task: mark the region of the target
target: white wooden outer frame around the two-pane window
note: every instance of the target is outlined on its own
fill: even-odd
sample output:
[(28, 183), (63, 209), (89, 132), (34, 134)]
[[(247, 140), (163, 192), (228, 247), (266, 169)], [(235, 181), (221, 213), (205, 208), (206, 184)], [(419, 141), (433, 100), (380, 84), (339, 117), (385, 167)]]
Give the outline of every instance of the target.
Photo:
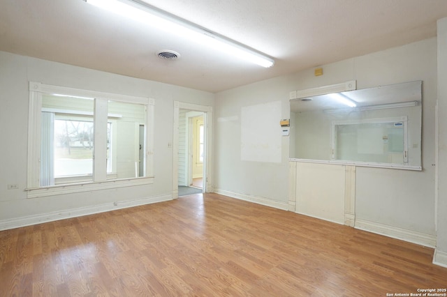
[[(106, 104), (108, 100), (129, 102), (145, 105), (147, 109), (145, 129), (145, 176), (135, 178), (122, 178), (108, 180), (107, 174), (95, 173), (93, 181), (81, 183), (66, 183), (63, 185), (50, 185), (42, 187), (40, 184), (41, 168), (41, 111), (43, 94), (61, 94), (66, 96), (78, 96), (95, 98), (95, 107)], [(28, 122), (28, 160), (27, 160), (27, 197), (46, 197), (74, 192), (87, 192), (91, 190), (105, 190), (122, 188), (133, 185), (145, 185), (154, 183), (154, 102), (152, 98), (104, 93), (73, 89), (65, 86), (54, 86), (40, 82), (29, 82), (29, 122)], [(96, 114), (95, 114), (96, 116)], [(107, 121), (107, 116), (105, 117)], [(96, 138), (96, 137), (95, 137)], [(94, 159), (95, 167), (103, 167), (104, 160)], [(105, 165), (105, 164), (104, 164)]]

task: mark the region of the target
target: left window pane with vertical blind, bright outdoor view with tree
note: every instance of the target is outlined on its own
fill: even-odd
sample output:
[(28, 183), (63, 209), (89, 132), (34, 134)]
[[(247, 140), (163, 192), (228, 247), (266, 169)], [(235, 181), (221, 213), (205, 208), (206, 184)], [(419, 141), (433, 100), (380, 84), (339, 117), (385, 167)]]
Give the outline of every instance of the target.
[(41, 185), (91, 181), (94, 100), (42, 98)]

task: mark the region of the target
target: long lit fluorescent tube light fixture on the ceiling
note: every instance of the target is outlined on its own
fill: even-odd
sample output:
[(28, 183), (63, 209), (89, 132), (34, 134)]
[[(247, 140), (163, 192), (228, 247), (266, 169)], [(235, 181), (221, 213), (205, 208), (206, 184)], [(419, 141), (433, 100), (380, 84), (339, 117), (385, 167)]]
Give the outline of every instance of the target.
[(112, 13), (131, 17), (133, 20), (138, 20), (156, 26), (170, 32), (177, 32), (182, 36), (188, 36), (191, 40), (205, 45), (214, 45), (219, 50), (226, 53), (233, 54), (238, 58), (245, 59), (251, 63), (256, 63), (265, 68), (274, 65), (274, 60), (258, 52), (257, 50), (247, 47), (242, 43), (231, 40), (225, 36), (220, 35), (206, 29), (203, 26), (184, 20), (176, 15), (172, 15), (155, 6), (149, 5), (140, 0), (84, 0), (94, 6), (98, 6)]

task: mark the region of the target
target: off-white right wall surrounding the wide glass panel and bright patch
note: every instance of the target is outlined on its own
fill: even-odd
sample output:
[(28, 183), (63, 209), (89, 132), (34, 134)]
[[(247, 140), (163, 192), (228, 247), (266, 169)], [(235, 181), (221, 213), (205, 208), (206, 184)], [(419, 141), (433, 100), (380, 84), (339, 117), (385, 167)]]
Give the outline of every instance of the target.
[[(242, 107), (281, 100), (289, 117), (288, 93), (357, 80), (358, 89), (423, 81), (422, 172), (358, 167), (356, 219), (396, 230), (434, 236), (434, 109), (437, 100), (437, 39), (430, 38), (382, 52), (324, 65), (217, 93), (215, 188), (259, 203), (278, 206), (288, 197), (288, 137), (281, 163), (244, 162), (240, 158)], [(219, 120), (220, 119), (220, 120)], [(279, 125), (279, 119), (278, 119)]]

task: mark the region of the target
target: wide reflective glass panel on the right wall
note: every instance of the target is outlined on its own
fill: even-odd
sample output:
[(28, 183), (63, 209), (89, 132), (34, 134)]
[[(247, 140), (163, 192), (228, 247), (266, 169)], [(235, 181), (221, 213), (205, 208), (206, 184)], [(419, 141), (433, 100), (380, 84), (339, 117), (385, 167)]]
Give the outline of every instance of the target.
[(291, 160), (423, 169), (421, 81), (338, 93), (356, 107), (318, 92), (304, 90), (305, 98), (290, 102)]

